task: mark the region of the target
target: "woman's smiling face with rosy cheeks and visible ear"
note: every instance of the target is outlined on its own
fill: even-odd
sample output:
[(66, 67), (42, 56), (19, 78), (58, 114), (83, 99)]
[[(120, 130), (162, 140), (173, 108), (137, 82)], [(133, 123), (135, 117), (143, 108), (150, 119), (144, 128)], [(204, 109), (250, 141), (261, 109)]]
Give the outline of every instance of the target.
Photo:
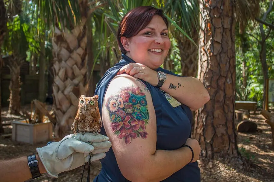
[(170, 48), (168, 29), (159, 15), (154, 15), (150, 23), (137, 35), (121, 38), (126, 54), (137, 63), (157, 69), (164, 62)]

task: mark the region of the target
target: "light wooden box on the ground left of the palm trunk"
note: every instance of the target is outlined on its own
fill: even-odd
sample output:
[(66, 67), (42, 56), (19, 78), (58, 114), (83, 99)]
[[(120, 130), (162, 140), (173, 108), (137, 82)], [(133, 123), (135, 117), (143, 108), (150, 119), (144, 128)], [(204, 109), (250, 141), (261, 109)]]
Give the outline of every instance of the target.
[(52, 124), (29, 124), (23, 121), (12, 122), (12, 140), (25, 143), (39, 143), (52, 140)]

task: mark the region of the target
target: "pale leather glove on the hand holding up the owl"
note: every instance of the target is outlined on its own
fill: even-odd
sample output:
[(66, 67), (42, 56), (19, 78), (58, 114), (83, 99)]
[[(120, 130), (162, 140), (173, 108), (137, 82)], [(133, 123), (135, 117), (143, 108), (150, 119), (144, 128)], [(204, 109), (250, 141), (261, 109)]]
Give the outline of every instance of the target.
[[(91, 161), (102, 159), (111, 147), (109, 138), (92, 133), (70, 134), (59, 142), (52, 142), (47, 146), (37, 148), (36, 151), (47, 170), (48, 177), (58, 177), (64, 171), (75, 169), (89, 161), (89, 153), (93, 153)], [(92, 142), (92, 145), (86, 143)]]

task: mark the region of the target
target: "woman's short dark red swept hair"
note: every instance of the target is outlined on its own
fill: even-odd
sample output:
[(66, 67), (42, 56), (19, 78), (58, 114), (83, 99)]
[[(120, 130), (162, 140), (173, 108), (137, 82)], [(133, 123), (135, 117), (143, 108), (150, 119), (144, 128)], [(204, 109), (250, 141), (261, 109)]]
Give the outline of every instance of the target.
[(137, 35), (149, 24), (154, 15), (161, 16), (168, 28), (167, 18), (164, 16), (163, 10), (153, 8), (152, 6), (140, 6), (125, 14), (117, 31), (117, 41), (121, 53), (126, 53), (121, 43), (121, 37), (130, 38)]

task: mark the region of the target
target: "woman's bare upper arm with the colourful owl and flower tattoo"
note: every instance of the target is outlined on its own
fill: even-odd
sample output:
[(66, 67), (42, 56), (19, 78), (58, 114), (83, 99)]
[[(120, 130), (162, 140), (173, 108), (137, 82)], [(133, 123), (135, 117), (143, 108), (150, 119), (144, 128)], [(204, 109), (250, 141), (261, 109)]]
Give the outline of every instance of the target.
[(105, 93), (102, 118), (114, 152), (125, 150), (122, 146), (132, 150), (136, 146), (132, 143), (144, 149), (153, 146), (154, 150), (151, 143), (156, 144), (155, 111), (151, 95), (139, 79), (130, 75), (112, 79)]

